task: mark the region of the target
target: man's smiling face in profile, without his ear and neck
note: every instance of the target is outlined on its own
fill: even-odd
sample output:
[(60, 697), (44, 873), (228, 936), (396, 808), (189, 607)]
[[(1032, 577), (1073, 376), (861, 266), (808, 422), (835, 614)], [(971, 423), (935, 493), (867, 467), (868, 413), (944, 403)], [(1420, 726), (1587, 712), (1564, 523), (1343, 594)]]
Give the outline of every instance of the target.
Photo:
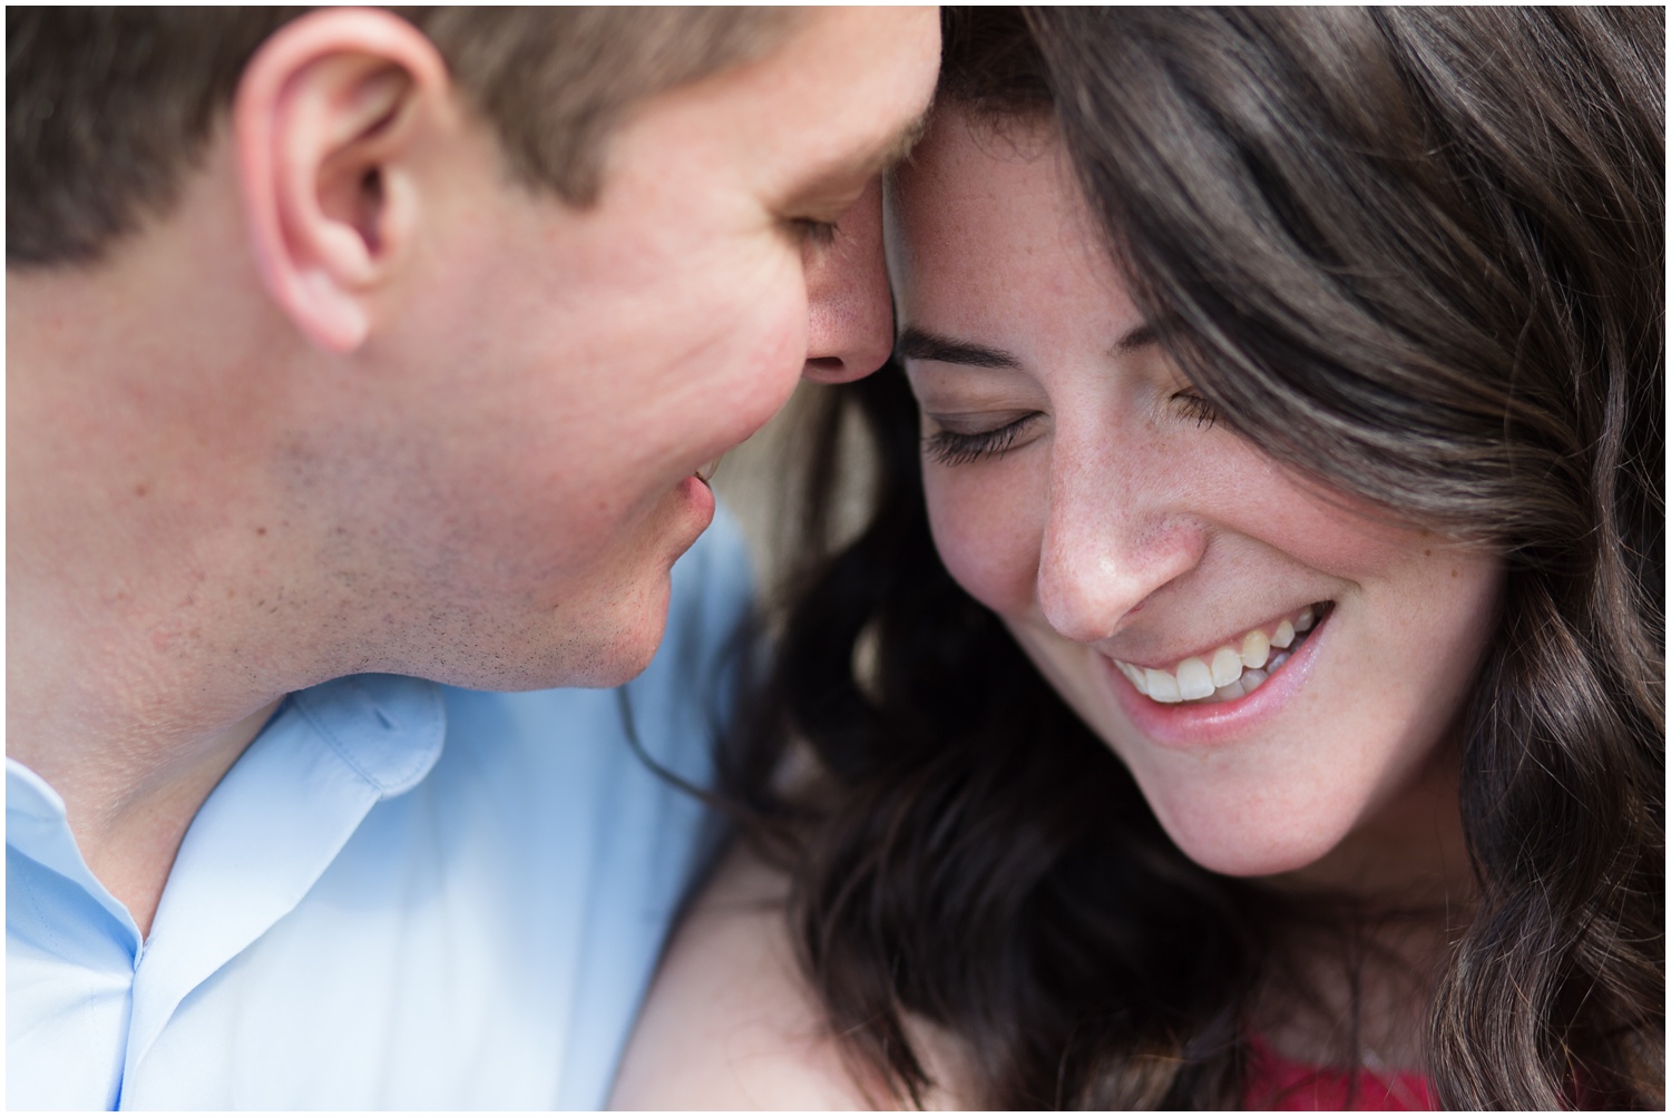
[[(643, 668), (714, 514), (695, 473), (802, 371), (889, 351), (874, 179), (937, 58), (932, 8), (809, 12), (769, 58), (630, 114), (588, 209), (508, 184), (483, 130), (411, 309), (373, 329), (373, 417), (323, 416), (309, 441), (336, 451), (297, 454), (297, 486), (346, 494), (317, 558), (354, 666), (491, 688)], [(809, 227), (837, 219), (829, 244)]]

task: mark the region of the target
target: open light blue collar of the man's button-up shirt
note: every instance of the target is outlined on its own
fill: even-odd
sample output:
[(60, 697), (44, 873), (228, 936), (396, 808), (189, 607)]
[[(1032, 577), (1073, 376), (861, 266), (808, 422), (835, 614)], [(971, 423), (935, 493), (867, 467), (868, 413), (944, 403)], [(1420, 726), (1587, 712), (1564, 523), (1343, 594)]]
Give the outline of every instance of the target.
[[(291, 695), (192, 818), (135, 950), (132, 1069), (180, 1000), (284, 918), (366, 813), (409, 791), (441, 756), (434, 683), (396, 675), (333, 680)], [(82, 885), (137, 945), (127, 908), (87, 868), (63, 800), (7, 758), (7, 845)]]

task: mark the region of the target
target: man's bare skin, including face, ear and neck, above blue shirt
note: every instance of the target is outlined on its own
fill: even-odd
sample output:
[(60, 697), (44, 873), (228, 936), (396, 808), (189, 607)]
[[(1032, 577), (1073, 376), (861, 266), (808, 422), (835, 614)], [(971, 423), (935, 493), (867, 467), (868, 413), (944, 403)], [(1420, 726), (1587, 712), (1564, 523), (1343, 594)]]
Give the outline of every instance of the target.
[(810, 12), (630, 112), (573, 209), (421, 33), (316, 12), (169, 215), (8, 277), (7, 751), (142, 930), (282, 695), (648, 663), (693, 474), (887, 354), (876, 177), (937, 50), (932, 10)]

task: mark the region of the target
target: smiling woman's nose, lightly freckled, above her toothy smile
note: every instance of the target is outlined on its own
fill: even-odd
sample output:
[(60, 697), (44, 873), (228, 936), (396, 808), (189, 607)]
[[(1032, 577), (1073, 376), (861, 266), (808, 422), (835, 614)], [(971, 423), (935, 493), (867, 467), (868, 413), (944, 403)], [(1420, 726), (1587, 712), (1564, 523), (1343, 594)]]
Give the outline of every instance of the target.
[(1079, 643), (1120, 631), (1156, 589), (1195, 569), (1206, 549), (1175, 483), (1113, 436), (1051, 449), (1049, 508), (1039, 546), (1038, 603), (1051, 628)]

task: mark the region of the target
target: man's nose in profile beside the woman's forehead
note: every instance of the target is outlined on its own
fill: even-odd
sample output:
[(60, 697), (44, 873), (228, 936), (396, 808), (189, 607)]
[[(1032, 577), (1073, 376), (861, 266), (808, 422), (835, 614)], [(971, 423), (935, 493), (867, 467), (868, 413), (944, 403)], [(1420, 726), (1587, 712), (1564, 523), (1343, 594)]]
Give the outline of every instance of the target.
[(807, 247), (807, 364), (820, 384), (857, 381), (894, 347), (894, 306), (882, 259), (882, 179), (847, 210), (836, 240)]

